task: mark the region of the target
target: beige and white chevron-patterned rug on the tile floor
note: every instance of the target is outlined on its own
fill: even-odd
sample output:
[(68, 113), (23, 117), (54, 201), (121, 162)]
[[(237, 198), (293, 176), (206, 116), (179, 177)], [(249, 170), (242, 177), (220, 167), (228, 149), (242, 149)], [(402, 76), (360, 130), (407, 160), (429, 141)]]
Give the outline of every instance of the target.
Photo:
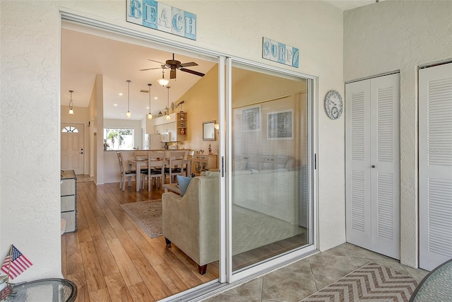
[(417, 281), (406, 274), (368, 263), (302, 301), (408, 302), (416, 286)]

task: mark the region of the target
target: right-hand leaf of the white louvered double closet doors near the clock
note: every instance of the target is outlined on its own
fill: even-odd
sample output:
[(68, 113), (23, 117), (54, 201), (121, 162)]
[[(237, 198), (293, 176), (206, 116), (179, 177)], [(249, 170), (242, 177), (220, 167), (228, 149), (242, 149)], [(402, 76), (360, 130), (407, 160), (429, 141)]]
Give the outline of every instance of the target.
[(400, 74), (371, 79), (371, 242), (400, 259)]

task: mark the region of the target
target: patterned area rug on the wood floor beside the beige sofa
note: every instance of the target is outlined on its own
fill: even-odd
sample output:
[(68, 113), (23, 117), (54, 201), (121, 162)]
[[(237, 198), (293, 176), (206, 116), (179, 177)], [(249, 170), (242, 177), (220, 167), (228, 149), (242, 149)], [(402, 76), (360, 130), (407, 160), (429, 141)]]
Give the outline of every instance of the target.
[(150, 238), (162, 236), (162, 199), (131, 202), (121, 207)]

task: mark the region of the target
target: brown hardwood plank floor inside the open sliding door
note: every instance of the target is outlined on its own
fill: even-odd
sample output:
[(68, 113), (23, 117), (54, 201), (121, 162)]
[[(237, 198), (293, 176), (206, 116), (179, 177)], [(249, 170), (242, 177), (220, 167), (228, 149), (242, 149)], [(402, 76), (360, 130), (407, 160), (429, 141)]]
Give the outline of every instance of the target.
[(157, 301), (218, 279), (218, 262), (205, 275), (165, 238), (149, 238), (119, 204), (160, 199), (162, 190), (125, 191), (119, 184), (77, 183), (76, 233), (61, 236), (64, 277), (77, 284), (76, 301)]

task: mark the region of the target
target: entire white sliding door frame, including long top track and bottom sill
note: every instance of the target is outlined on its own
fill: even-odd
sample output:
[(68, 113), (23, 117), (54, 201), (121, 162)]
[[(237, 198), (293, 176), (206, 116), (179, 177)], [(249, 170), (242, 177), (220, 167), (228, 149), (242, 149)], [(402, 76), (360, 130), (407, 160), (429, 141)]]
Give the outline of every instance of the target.
[[(77, 12), (80, 13), (80, 12)], [(170, 301), (174, 298), (184, 298), (187, 296), (192, 297), (206, 297), (208, 293), (213, 293), (216, 291), (220, 291), (218, 286), (222, 286), (224, 289), (225, 286), (232, 286), (232, 283), (237, 284), (237, 282), (244, 282), (250, 279), (253, 279), (258, 274), (263, 274), (265, 272), (270, 272), (273, 269), (277, 269), (285, 264), (288, 264), (294, 260), (302, 259), (306, 257), (312, 252), (315, 252), (318, 244), (318, 235), (317, 235), (317, 170), (316, 170), (316, 153), (317, 153), (317, 81), (318, 79), (315, 76), (310, 76), (307, 74), (302, 74), (297, 71), (292, 71), (290, 69), (283, 69), (278, 66), (271, 66), (263, 63), (254, 62), (248, 59), (242, 59), (239, 57), (229, 57), (227, 54), (207, 50), (202, 47), (197, 47), (195, 45), (185, 44), (184, 42), (177, 42), (175, 40), (171, 40), (171, 37), (159, 37), (157, 35), (153, 35), (150, 33), (143, 33), (133, 30), (131, 28), (124, 28), (119, 25), (114, 25), (112, 23), (105, 23), (104, 21), (95, 20), (92, 16), (83, 16), (80, 14), (73, 13), (73, 11), (60, 11), (61, 15), (61, 23), (63, 21), (67, 23), (71, 23), (78, 26), (83, 26), (86, 28), (90, 28), (94, 32), (102, 31), (105, 33), (105, 37), (109, 37), (112, 33), (113, 35), (120, 35), (124, 39), (124, 42), (137, 42), (141, 40), (141, 43), (136, 43), (145, 47), (157, 48), (160, 50), (169, 51), (171, 49), (177, 49), (182, 52), (190, 52), (199, 55), (203, 55), (206, 57), (210, 57), (211, 59), (216, 58), (218, 61), (218, 114), (219, 114), (219, 124), (220, 130), (219, 134), (219, 161), (220, 161), (220, 260), (219, 260), (219, 269), (220, 274), (218, 280), (210, 281), (203, 286), (197, 286), (194, 289), (188, 289), (182, 293), (176, 294), (174, 296), (170, 296), (168, 298), (163, 299), (163, 301)], [(71, 27), (71, 26), (69, 26)], [(65, 28), (63, 24), (61, 24), (61, 28)], [(117, 37), (109, 37), (112, 39), (117, 39)], [(131, 42), (131, 43), (133, 43)], [(158, 45), (158, 47), (157, 47)], [(249, 269), (244, 269), (241, 272), (237, 272), (232, 274), (232, 250), (231, 250), (231, 223), (227, 223), (227, 221), (231, 220), (231, 208), (230, 208), (230, 199), (232, 197), (232, 161), (230, 160), (232, 156), (231, 146), (232, 146), (232, 102), (231, 102), (231, 91), (232, 91), (232, 78), (231, 78), (231, 70), (232, 70), (232, 62), (237, 62), (239, 64), (249, 65), (253, 67), (257, 67), (260, 69), (264, 69), (267, 71), (279, 73), (279, 74), (287, 74), (289, 76), (295, 76), (297, 78), (307, 79), (308, 82), (308, 98), (309, 98), (309, 133), (311, 135), (309, 140), (309, 156), (308, 156), (308, 165), (312, 167), (309, 174), (309, 187), (311, 188), (310, 192), (310, 216), (311, 219), (310, 226), (312, 228), (312, 233), (309, 234), (309, 238), (311, 239), (311, 245), (300, 248), (293, 252), (288, 252), (285, 255), (281, 255), (273, 260), (269, 260), (261, 265), (256, 265), (255, 267), (251, 267)], [(226, 284), (229, 283), (229, 284)], [(216, 289), (212, 289), (212, 286), (216, 287)], [(195, 298), (196, 300), (196, 298)]]

